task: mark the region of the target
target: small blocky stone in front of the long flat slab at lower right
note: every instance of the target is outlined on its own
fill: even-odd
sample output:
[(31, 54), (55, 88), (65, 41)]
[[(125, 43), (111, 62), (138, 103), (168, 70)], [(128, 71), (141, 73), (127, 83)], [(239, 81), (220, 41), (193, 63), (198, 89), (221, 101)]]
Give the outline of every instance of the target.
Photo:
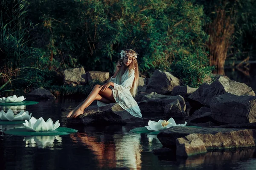
[(206, 153), (207, 149), (204, 142), (197, 134), (190, 134), (183, 138), (176, 139), (176, 155), (177, 156), (192, 156), (199, 153)]

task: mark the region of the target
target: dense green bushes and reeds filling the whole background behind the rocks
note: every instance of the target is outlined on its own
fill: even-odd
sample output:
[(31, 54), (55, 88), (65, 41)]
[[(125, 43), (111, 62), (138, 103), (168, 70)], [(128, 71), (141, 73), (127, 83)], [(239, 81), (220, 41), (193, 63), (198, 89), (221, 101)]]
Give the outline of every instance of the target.
[(140, 77), (150, 78), (159, 69), (174, 74), (181, 85), (199, 87), (212, 73), (224, 75), (226, 59), (254, 62), (255, 3), (2, 0), (0, 96), (39, 87), (55, 96), (87, 95), (102, 82), (65, 85), (64, 70), (111, 75), (119, 52), (127, 48), (139, 54)]

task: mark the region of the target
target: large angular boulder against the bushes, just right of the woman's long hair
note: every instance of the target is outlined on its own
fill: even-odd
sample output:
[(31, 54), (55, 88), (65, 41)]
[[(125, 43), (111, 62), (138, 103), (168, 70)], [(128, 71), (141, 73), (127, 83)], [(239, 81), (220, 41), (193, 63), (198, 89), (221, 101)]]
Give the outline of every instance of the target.
[(180, 85), (180, 79), (174, 77), (169, 72), (156, 70), (148, 81), (146, 92), (156, 92), (157, 94), (170, 94), (172, 89), (177, 85)]

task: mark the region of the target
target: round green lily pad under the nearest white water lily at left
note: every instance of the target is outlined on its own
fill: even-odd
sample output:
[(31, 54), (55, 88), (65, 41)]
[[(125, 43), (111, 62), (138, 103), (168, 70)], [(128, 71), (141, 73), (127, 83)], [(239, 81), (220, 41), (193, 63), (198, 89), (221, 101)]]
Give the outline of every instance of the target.
[(55, 135), (68, 135), (70, 133), (76, 133), (78, 130), (71, 129), (67, 127), (58, 127), (56, 130), (52, 131), (27, 131), (25, 127), (22, 128), (16, 128), (16, 129), (10, 129), (6, 130), (3, 133), (6, 133), (8, 135), (17, 135), (17, 136), (55, 136)]

